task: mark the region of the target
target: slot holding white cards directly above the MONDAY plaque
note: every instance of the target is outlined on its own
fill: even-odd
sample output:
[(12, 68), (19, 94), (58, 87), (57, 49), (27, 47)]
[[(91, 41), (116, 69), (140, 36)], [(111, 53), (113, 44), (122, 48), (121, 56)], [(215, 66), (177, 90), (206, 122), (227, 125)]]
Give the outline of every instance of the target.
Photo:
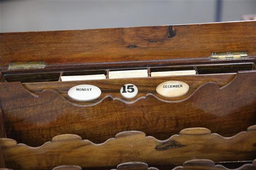
[(106, 74), (106, 70), (64, 72), (61, 81), (101, 80), (106, 79)]

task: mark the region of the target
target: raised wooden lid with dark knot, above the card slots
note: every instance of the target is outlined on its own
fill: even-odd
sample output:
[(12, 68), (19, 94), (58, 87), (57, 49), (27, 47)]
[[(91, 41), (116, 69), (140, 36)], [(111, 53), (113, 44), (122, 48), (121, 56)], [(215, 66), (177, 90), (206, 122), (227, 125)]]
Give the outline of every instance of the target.
[[(256, 56), (256, 21), (0, 33), (0, 66), (10, 62), (139, 62), (209, 57), (248, 50)], [(126, 63), (122, 63), (126, 64)]]

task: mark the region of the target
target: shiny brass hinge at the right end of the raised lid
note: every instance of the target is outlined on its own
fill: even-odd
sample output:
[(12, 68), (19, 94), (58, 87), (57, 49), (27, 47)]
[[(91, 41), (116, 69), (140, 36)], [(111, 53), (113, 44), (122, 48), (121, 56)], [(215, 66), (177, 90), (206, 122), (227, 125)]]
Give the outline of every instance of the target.
[(247, 57), (247, 51), (239, 51), (239, 52), (212, 52), (210, 58), (211, 59), (239, 59), (242, 57)]

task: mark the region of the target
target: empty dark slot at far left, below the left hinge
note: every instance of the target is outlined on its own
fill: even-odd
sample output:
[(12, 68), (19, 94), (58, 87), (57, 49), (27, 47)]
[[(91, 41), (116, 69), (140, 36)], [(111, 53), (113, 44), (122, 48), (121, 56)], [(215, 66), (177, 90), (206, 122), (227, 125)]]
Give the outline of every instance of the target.
[(54, 73), (29, 73), (29, 74), (4, 74), (6, 82), (55, 82), (58, 81), (59, 72)]

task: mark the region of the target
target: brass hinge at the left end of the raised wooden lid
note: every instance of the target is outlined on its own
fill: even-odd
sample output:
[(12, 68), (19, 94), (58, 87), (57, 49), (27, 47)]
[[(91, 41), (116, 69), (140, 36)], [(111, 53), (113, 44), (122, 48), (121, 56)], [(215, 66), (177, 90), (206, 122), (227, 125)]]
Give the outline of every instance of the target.
[(45, 68), (44, 62), (14, 62), (14, 63), (8, 63), (9, 67), (8, 69), (43, 69)]

